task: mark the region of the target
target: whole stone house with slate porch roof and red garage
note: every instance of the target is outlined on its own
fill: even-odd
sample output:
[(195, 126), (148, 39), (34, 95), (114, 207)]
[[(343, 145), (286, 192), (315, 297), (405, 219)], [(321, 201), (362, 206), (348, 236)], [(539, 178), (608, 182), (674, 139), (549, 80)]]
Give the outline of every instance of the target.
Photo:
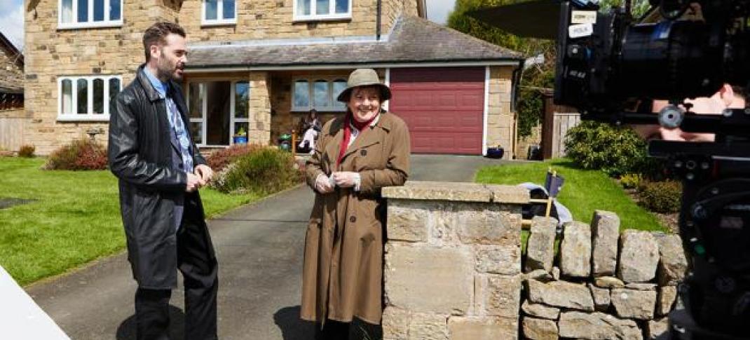
[[(424, 0), (34, 0), (26, 8), (24, 134), (37, 152), (107, 129), (109, 102), (143, 62), (157, 20), (187, 31), (184, 91), (202, 149), (236, 132), (275, 144), (336, 95), (355, 68), (391, 86), (387, 107), (413, 152), (483, 154), (515, 140), (511, 98), (520, 55), (425, 19)], [(99, 138), (104, 141), (106, 138)]]

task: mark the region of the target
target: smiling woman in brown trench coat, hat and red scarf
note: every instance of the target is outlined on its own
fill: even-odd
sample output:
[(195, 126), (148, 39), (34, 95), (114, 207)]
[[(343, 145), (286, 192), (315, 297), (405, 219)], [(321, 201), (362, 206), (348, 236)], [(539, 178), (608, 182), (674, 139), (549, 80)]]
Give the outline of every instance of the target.
[(409, 173), (406, 123), (381, 109), (388, 86), (371, 69), (350, 74), (338, 101), (347, 115), (323, 126), (308, 161), (316, 192), (302, 272), (302, 318), (317, 338), (347, 338), (353, 317), (380, 323), (386, 206), (380, 189), (404, 185)]

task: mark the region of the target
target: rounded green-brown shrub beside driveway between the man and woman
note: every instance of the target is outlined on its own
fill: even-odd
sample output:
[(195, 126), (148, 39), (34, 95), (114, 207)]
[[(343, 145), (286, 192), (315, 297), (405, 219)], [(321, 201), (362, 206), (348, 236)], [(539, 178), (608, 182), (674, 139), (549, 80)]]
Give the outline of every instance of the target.
[(269, 194), (302, 181), (294, 156), (279, 149), (258, 148), (220, 170), (214, 188), (226, 193)]

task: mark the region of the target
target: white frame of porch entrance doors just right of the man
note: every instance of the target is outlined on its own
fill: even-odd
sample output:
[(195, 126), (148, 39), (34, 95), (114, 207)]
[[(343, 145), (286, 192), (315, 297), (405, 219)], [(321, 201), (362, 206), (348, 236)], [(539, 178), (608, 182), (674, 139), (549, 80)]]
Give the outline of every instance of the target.
[[(248, 123), (248, 131), (245, 131), (248, 133), (248, 140), (250, 139), (250, 105), (248, 103), (248, 116), (245, 118), (237, 118), (236, 117), (236, 111), (235, 111), (235, 96), (236, 96), (236, 86), (237, 83), (248, 83), (248, 101), (250, 99), (251, 93), (253, 91), (251, 87), (251, 82), (249, 80), (220, 80), (220, 79), (214, 79), (214, 80), (196, 80), (194, 82), (187, 83), (186, 89), (187, 94), (185, 95), (185, 101), (187, 101), (187, 105), (190, 105), (190, 85), (196, 84), (202, 88), (202, 92), (205, 92), (205, 95), (203, 96), (203, 101), (201, 102), (200, 106), (200, 117), (199, 118), (193, 118), (188, 117), (190, 120), (190, 123), (201, 123), (201, 138), (200, 143), (196, 143), (196, 146), (199, 147), (210, 147), (210, 148), (224, 148), (226, 145), (208, 145), (205, 143), (205, 137), (206, 134), (208, 134), (208, 117), (206, 117), (206, 114), (208, 113), (208, 89), (206, 87), (206, 83), (213, 83), (213, 82), (226, 82), (229, 81), (229, 146), (234, 144), (234, 135), (235, 135), (235, 123)], [(190, 116), (190, 107), (187, 108), (188, 116)], [(188, 128), (191, 128), (188, 126)]]

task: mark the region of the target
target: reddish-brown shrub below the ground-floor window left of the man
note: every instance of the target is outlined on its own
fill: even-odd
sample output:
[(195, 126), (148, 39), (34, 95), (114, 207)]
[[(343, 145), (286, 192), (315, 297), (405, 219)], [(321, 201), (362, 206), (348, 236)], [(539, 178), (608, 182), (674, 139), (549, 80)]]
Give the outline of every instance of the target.
[(107, 149), (92, 140), (73, 140), (52, 152), (44, 166), (46, 170), (105, 170)]

